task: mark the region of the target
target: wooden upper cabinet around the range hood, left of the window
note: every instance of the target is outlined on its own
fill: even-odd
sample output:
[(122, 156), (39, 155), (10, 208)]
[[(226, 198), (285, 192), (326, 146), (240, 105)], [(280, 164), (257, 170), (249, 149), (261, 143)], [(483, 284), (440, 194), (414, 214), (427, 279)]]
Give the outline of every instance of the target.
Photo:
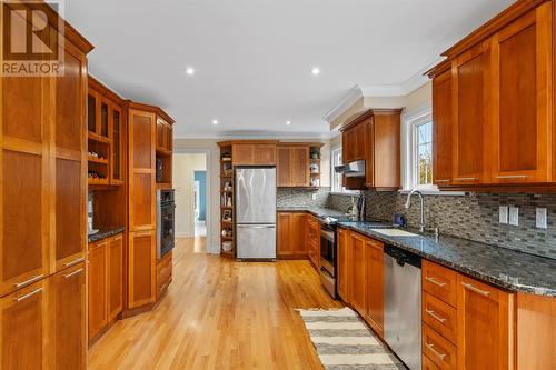
[(365, 178), (344, 178), (347, 189), (399, 189), (400, 113), (371, 109), (342, 128), (342, 162), (365, 160), (366, 169)]

